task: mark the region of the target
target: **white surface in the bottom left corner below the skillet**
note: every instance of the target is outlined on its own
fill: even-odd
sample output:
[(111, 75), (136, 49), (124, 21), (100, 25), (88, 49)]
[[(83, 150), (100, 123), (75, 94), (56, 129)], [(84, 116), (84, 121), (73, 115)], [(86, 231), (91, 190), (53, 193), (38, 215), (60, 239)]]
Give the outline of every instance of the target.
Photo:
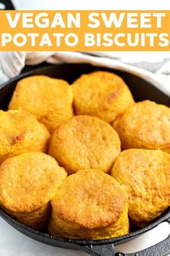
[(1, 256), (86, 256), (80, 251), (51, 247), (24, 236), (0, 219)]

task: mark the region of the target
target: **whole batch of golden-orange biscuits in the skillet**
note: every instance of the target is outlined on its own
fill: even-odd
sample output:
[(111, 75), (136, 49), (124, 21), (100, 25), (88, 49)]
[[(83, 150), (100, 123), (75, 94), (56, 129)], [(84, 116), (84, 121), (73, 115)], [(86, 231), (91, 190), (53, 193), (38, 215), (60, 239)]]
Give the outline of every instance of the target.
[(170, 205), (170, 108), (135, 103), (121, 77), (17, 83), (0, 111), (0, 207), (32, 229), (107, 239)]

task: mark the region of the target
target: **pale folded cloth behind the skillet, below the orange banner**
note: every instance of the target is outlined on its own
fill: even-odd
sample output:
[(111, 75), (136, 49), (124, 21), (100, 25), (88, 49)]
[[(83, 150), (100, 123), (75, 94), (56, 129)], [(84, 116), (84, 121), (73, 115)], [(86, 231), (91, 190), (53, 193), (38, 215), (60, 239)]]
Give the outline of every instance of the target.
[[(130, 53), (128, 53), (130, 54)], [(136, 55), (140, 56), (141, 53)], [(125, 54), (127, 56), (127, 53)], [(129, 60), (128, 60), (129, 59)], [(154, 59), (154, 58), (153, 58)], [(170, 96), (170, 59), (164, 59), (153, 63), (139, 61), (139, 59), (120, 57), (114, 52), (75, 52), (75, 51), (4, 51), (0, 52), (0, 69), (7, 77), (17, 76), (24, 65), (40, 64), (44, 61), (56, 63), (88, 63), (99, 67), (120, 69), (151, 82)], [(142, 68), (143, 67), (143, 68)], [(148, 70), (150, 71), (148, 71)], [(152, 72), (151, 72), (152, 71)]]

